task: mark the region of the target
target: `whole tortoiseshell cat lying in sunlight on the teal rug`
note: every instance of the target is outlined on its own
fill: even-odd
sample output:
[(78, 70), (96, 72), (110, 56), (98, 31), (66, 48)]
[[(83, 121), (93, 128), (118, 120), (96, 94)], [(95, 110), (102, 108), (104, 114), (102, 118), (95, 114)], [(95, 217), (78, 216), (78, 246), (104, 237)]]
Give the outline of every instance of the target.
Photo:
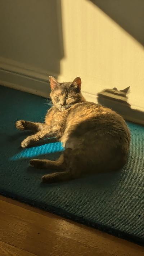
[(16, 122), (17, 129), (35, 132), (23, 140), (23, 148), (52, 137), (63, 143), (65, 149), (58, 160), (30, 160), (33, 167), (59, 170), (44, 175), (42, 181), (67, 181), (125, 165), (131, 136), (124, 119), (109, 108), (87, 102), (81, 94), (80, 77), (60, 83), (50, 76), (49, 81), (53, 107), (45, 123)]

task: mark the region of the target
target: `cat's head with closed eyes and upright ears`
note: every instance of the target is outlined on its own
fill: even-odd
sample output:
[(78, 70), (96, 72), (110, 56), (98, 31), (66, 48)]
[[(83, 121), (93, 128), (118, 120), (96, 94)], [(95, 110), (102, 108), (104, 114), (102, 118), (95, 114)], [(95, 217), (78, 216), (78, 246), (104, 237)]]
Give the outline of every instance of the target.
[(64, 111), (73, 104), (84, 101), (81, 94), (81, 78), (77, 77), (73, 82), (59, 83), (53, 76), (49, 77), (51, 87), (51, 100), (53, 105)]

